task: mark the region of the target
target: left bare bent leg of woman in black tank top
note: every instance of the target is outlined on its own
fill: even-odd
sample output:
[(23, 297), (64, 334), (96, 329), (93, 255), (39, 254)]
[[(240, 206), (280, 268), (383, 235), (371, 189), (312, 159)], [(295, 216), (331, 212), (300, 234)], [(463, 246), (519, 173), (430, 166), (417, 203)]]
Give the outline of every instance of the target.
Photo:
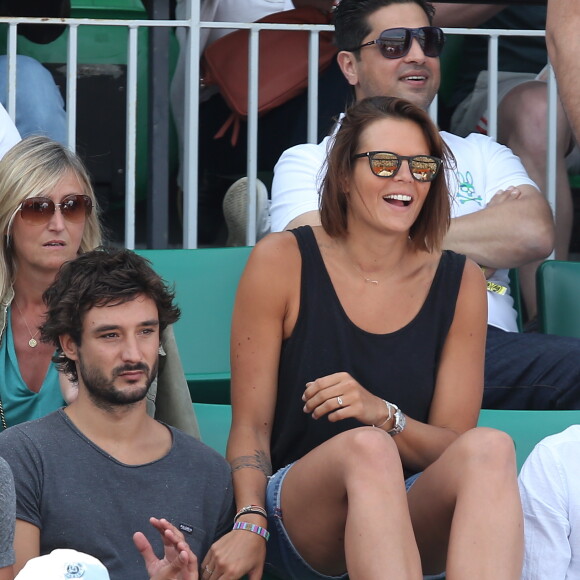
[(379, 429), (342, 433), (296, 462), (282, 512), (292, 542), (321, 573), (422, 578), (399, 453)]

